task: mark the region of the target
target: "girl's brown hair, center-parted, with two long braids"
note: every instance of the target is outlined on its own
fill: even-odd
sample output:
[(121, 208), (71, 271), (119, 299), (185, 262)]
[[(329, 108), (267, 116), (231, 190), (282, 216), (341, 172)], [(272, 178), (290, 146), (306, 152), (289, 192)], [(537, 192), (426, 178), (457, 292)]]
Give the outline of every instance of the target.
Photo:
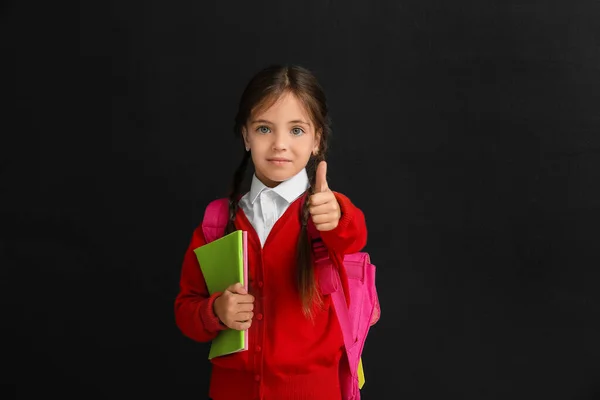
[[(321, 304), (314, 276), (312, 243), (308, 237), (307, 223), (310, 218), (308, 196), (314, 193), (316, 167), (325, 160), (327, 140), (331, 134), (327, 99), (316, 77), (300, 66), (274, 65), (259, 71), (248, 83), (239, 102), (235, 117), (234, 132), (242, 138), (242, 128), (253, 113), (270, 107), (284, 93), (296, 96), (308, 111), (315, 124), (315, 134), (319, 140), (319, 151), (311, 156), (306, 166), (310, 180), (307, 197), (300, 216), (302, 231), (297, 245), (297, 287), (307, 317), (313, 315), (314, 306)], [(242, 146), (243, 138), (242, 138)], [(246, 151), (235, 171), (233, 185), (229, 195), (229, 222), (226, 233), (235, 231), (234, 220), (238, 210), (240, 187), (244, 180), (250, 152)]]

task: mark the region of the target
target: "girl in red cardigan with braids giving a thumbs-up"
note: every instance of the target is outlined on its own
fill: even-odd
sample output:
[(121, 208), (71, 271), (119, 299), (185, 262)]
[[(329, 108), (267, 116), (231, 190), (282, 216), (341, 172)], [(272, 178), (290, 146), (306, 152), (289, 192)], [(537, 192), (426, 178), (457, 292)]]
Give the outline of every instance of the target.
[[(325, 94), (304, 68), (266, 68), (242, 94), (234, 130), (245, 154), (225, 233), (248, 231), (250, 293), (238, 283), (208, 294), (193, 253), (205, 243), (199, 226), (184, 256), (177, 326), (198, 342), (223, 329), (249, 330), (247, 351), (211, 360), (213, 400), (341, 399), (344, 341), (330, 297), (319, 292), (307, 225), (338, 261), (346, 288), (340, 257), (361, 251), (367, 229), (362, 211), (327, 184)], [(255, 172), (241, 196), (250, 158)]]

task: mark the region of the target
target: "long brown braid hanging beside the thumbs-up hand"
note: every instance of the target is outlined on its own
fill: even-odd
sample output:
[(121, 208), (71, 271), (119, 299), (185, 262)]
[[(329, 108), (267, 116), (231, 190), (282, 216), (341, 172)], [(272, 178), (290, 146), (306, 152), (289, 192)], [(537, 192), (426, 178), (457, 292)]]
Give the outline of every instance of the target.
[[(322, 153), (320, 153), (322, 154)], [(309, 171), (310, 187), (306, 190), (306, 198), (302, 208), (300, 217), (301, 231), (298, 241), (298, 291), (302, 299), (302, 307), (304, 314), (311, 318), (313, 316), (313, 307), (322, 305), (322, 298), (317, 290), (317, 284), (314, 273), (314, 259), (312, 240), (308, 235), (308, 221), (310, 218), (310, 196), (315, 193), (316, 174), (319, 162), (323, 160), (323, 156), (317, 155), (313, 159), (312, 168)]]

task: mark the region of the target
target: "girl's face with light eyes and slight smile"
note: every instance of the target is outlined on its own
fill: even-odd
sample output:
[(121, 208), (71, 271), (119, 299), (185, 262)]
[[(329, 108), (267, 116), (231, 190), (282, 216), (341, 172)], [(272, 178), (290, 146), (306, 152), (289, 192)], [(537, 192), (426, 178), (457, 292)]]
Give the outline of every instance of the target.
[(306, 167), (319, 150), (315, 126), (302, 103), (285, 93), (271, 107), (252, 115), (242, 130), (256, 177), (275, 187)]

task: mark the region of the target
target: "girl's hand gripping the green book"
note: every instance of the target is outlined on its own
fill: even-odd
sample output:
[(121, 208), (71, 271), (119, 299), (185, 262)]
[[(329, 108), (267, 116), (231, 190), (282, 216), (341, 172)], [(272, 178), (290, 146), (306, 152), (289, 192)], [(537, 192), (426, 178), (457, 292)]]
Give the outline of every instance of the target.
[(215, 314), (228, 328), (243, 331), (252, 325), (254, 296), (241, 283), (229, 286), (215, 299)]

